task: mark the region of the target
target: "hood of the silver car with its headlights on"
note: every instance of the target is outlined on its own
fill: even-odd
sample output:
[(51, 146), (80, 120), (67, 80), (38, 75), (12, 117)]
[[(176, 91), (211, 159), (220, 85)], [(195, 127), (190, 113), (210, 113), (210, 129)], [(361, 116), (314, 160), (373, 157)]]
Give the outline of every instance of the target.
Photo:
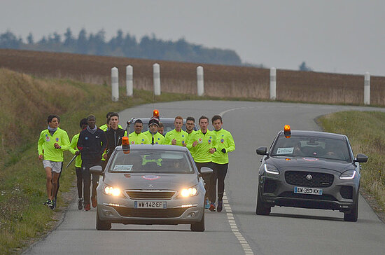
[(104, 183), (121, 189), (181, 190), (198, 184), (196, 174), (107, 173)]

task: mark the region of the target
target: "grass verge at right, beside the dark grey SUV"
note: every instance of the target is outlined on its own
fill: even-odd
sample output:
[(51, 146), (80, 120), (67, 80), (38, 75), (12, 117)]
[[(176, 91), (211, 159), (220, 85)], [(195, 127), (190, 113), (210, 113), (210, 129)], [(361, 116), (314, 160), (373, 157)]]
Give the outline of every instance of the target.
[(378, 111), (342, 111), (318, 118), (326, 132), (349, 137), (354, 153), (369, 157), (362, 164), (361, 188), (378, 202), (377, 212), (385, 208), (385, 113)]

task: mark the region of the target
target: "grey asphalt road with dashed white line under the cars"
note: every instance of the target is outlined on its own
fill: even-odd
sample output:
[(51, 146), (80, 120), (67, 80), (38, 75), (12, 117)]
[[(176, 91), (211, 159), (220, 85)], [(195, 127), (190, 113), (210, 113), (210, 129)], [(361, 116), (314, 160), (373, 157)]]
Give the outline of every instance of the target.
[[(344, 110), (385, 111), (356, 106), (273, 102), (189, 101), (146, 104), (120, 113), (120, 123), (132, 117), (222, 114), (236, 149), (230, 153), (223, 212), (206, 210), (206, 230), (193, 233), (188, 225), (141, 226), (113, 224), (95, 229), (96, 211), (70, 205), (64, 220), (25, 254), (385, 254), (385, 224), (360, 197), (357, 222), (345, 222), (341, 212), (273, 207), (269, 216), (255, 215), (260, 156), (283, 125), (293, 130), (320, 130), (314, 118)], [(100, 122), (99, 125), (103, 123)], [(210, 127), (212, 129), (212, 127)], [(354, 151), (365, 153), (365, 151)]]

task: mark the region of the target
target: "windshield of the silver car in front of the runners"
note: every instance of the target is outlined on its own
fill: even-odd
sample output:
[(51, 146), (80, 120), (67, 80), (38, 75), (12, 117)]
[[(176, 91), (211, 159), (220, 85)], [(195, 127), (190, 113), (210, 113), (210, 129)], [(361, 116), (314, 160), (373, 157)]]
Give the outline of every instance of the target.
[(184, 151), (132, 150), (116, 151), (109, 172), (189, 174), (194, 169)]

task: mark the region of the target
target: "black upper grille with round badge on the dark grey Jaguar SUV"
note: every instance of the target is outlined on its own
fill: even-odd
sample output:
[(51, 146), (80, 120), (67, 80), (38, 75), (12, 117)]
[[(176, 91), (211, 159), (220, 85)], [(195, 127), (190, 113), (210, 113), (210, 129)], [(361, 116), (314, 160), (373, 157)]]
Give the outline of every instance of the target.
[[(308, 174), (311, 175), (310, 180), (307, 179)], [(285, 180), (291, 185), (326, 188), (332, 186), (334, 175), (322, 172), (286, 171)]]

